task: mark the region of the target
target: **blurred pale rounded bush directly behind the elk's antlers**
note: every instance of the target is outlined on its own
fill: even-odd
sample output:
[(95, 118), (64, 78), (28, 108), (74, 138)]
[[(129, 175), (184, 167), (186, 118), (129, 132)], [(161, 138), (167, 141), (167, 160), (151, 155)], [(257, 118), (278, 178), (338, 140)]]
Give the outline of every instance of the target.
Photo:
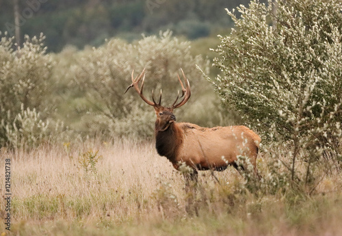
[(207, 60), (191, 55), (190, 42), (172, 37), (170, 31), (159, 37), (144, 36), (132, 44), (109, 40), (103, 47), (83, 55), (73, 67), (79, 88), (94, 105), (92, 117), (86, 116), (84, 120), (94, 131), (148, 137), (153, 132), (152, 107), (146, 108), (133, 89), (124, 94), (132, 83), (132, 70), (136, 77), (146, 68), (145, 96), (150, 99), (149, 91), (164, 88), (162, 103), (168, 106), (176, 98), (176, 90), (181, 88), (177, 79), (179, 68), (190, 78), (193, 90), (204, 88), (196, 64), (209, 72)]

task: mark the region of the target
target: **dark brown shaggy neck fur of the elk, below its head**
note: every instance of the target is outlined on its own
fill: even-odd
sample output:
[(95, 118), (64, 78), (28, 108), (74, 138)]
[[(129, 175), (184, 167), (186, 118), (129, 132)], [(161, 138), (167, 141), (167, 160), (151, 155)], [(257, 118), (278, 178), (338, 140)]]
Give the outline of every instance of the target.
[(167, 157), (172, 163), (176, 162), (176, 153), (181, 144), (181, 133), (176, 123), (170, 124), (166, 131), (155, 131), (155, 148), (161, 156)]

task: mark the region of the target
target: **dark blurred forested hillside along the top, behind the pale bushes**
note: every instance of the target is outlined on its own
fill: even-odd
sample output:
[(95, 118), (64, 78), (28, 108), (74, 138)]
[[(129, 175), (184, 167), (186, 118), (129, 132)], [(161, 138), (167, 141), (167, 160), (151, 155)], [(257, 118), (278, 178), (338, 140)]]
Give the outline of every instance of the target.
[[(0, 31), (14, 35), (14, 2), (0, 0)], [(131, 42), (141, 34), (170, 29), (188, 39), (215, 36), (232, 26), (224, 8), (233, 9), (248, 0), (18, 0), (21, 38), (25, 34), (47, 36), (48, 51), (61, 51), (67, 44), (79, 49), (100, 46), (105, 38)], [(28, 8), (32, 9), (27, 10)]]

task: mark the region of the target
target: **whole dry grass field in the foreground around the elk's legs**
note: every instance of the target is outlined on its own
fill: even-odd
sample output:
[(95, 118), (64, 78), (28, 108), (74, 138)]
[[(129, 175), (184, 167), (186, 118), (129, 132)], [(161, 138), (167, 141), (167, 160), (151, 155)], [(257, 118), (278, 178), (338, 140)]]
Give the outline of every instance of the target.
[[(11, 231), (1, 224), (1, 235), (342, 235), (338, 172), (324, 176), (311, 196), (239, 194), (244, 179), (233, 168), (215, 172), (220, 184), (201, 172), (189, 196), (153, 142), (68, 143), (2, 149), (3, 196), (8, 158)], [(260, 165), (264, 159), (261, 153)], [(190, 197), (197, 215), (185, 211)]]

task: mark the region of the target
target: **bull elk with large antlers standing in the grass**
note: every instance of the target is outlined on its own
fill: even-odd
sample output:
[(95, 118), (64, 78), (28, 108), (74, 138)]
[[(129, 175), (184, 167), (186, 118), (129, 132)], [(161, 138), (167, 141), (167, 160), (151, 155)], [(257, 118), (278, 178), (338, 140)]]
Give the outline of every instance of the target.
[[(157, 153), (168, 158), (174, 168), (179, 170), (182, 163), (192, 168), (192, 172), (185, 176), (185, 190), (189, 189), (189, 181), (197, 181), (198, 170), (218, 170), (222, 171), (227, 166), (232, 165), (236, 169), (246, 169), (244, 164), (237, 163), (237, 156), (244, 155), (248, 157), (257, 174), (256, 159), (259, 150), (261, 138), (252, 130), (245, 126), (214, 127), (204, 128), (197, 124), (187, 122), (176, 122), (176, 116), (173, 110), (179, 108), (189, 100), (191, 96), (190, 84), (184, 75), (185, 88), (181, 83), (182, 96), (179, 100), (179, 92), (176, 100), (170, 107), (161, 105), (161, 92), (159, 102), (155, 101), (152, 91), (152, 101), (146, 99), (143, 95), (145, 69), (137, 77), (133, 77), (132, 83), (127, 88), (135, 88), (142, 100), (155, 109), (157, 120), (155, 121), (155, 147)], [(139, 82), (142, 79), (141, 87)], [(126, 93), (124, 92), (124, 93)]]

